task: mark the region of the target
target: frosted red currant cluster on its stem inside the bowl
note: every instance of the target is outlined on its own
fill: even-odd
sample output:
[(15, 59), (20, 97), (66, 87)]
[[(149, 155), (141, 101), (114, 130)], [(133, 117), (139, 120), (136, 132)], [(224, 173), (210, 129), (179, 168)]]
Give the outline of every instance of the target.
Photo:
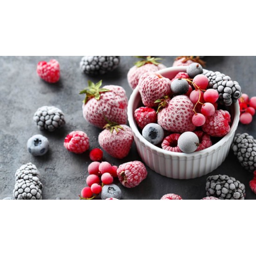
[(192, 122), (195, 126), (202, 126), (206, 121), (206, 117), (212, 116), (215, 113), (219, 94), (215, 89), (206, 90), (209, 80), (203, 74), (196, 75), (193, 81), (189, 79), (187, 81), (195, 88), (189, 94), (190, 101), (195, 105), (193, 109), (195, 115), (192, 117)]

